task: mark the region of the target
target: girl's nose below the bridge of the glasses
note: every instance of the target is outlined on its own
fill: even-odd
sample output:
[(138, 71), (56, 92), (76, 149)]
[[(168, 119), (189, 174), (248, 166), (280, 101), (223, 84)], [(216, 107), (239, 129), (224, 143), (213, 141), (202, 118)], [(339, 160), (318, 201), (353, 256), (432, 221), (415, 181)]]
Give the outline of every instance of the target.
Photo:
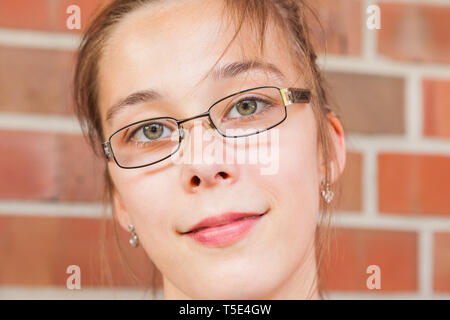
[[(183, 130), (182, 136), (185, 148), (182, 149), (190, 151), (190, 157), (187, 159), (189, 161), (185, 160), (181, 164), (181, 182), (184, 189), (189, 193), (194, 193), (205, 188), (235, 183), (239, 178), (239, 166), (235, 163), (226, 163), (223, 157), (225, 154), (225, 138), (215, 132), (214, 124), (210, 123), (209, 120), (195, 121), (196, 124), (201, 122), (198, 129), (203, 129), (206, 126), (212, 130), (209, 130), (210, 136), (206, 142), (203, 139), (204, 133), (201, 135), (195, 134), (196, 124), (194, 124), (194, 128), (189, 130), (187, 137), (187, 130)], [(191, 134), (192, 130), (194, 130), (194, 134)], [(198, 144), (201, 144), (201, 146), (199, 147)], [(223, 152), (215, 152), (218, 148), (223, 148)], [(186, 152), (182, 151), (182, 153)], [(211, 153), (213, 154), (211, 155)], [(205, 157), (208, 157), (207, 161), (205, 161)]]

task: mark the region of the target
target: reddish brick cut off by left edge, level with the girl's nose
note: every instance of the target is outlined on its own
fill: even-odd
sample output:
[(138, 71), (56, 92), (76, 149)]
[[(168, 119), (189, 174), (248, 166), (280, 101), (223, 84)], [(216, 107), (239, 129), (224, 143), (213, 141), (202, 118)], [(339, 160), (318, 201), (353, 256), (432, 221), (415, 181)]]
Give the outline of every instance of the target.
[(54, 134), (0, 131), (0, 198), (55, 199), (58, 141)]

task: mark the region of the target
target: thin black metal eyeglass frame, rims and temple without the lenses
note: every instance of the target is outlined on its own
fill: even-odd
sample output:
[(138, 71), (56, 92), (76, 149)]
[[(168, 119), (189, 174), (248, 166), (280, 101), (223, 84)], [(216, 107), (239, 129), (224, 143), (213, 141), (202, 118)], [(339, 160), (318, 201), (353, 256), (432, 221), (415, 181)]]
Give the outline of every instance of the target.
[[(244, 134), (244, 135), (237, 135), (237, 136), (225, 135), (222, 132), (220, 132), (219, 129), (217, 129), (217, 127), (214, 124), (214, 121), (211, 119), (211, 115), (210, 115), (210, 111), (215, 105), (217, 105), (218, 103), (222, 102), (223, 100), (228, 99), (230, 97), (233, 97), (235, 95), (238, 95), (238, 94), (241, 94), (241, 93), (245, 93), (245, 92), (248, 92), (248, 91), (252, 91), (252, 90), (256, 90), (256, 89), (264, 89), (264, 88), (278, 89), (280, 91), (281, 97), (283, 99), (283, 104), (284, 104), (284, 117), (283, 117), (283, 119), (281, 119), (279, 122), (277, 122), (276, 124), (274, 124), (274, 125), (272, 125), (272, 126), (270, 126), (268, 128), (265, 128), (263, 130), (258, 130), (256, 132), (249, 133), (249, 134)], [(214, 102), (208, 108), (208, 111), (206, 111), (204, 113), (201, 113), (199, 115), (193, 116), (193, 117), (189, 117), (189, 118), (182, 119), (182, 120), (178, 120), (178, 119), (175, 119), (173, 117), (157, 117), (157, 118), (150, 118), (150, 119), (140, 120), (140, 121), (128, 124), (125, 127), (122, 127), (119, 130), (117, 130), (114, 133), (112, 133), (109, 136), (108, 140), (102, 143), (102, 149), (103, 149), (103, 153), (105, 155), (105, 158), (108, 161), (111, 158), (113, 158), (114, 162), (117, 164), (117, 166), (119, 166), (122, 169), (137, 169), (137, 168), (147, 167), (147, 166), (156, 164), (158, 162), (164, 161), (167, 158), (170, 158), (176, 152), (178, 152), (178, 150), (180, 149), (180, 146), (181, 146), (181, 141), (184, 139), (184, 130), (183, 130), (183, 127), (181, 126), (181, 124), (183, 124), (184, 122), (187, 122), (189, 120), (202, 118), (202, 117), (208, 117), (209, 125), (211, 126), (211, 128), (215, 129), (222, 137), (225, 137), (225, 138), (241, 138), (241, 137), (251, 136), (251, 135), (254, 135), (254, 134), (259, 134), (261, 132), (267, 131), (269, 129), (272, 129), (273, 127), (278, 126), (280, 123), (282, 123), (287, 118), (287, 108), (286, 107), (288, 105), (291, 105), (291, 104), (294, 104), (294, 103), (309, 103), (310, 101), (311, 101), (311, 90), (309, 90), (309, 89), (301, 89), (301, 88), (283, 88), (283, 89), (280, 89), (280, 88), (278, 88), (276, 86), (261, 86), (261, 87), (245, 89), (245, 90), (242, 90), (242, 91), (230, 94), (230, 95), (228, 95), (228, 96), (226, 96), (226, 97), (224, 97), (224, 98)], [(134, 166), (134, 167), (125, 167), (125, 166), (120, 165), (119, 162), (117, 161), (116, 157), (114, 156), (114, 151), (113, 151), (112, 146), (111, 146), (111, 138), (115, 134), (117, 134), (118, 132), (120, 132), (120, 131), (128, 128), (128, 127), (134, 126), (134, 125), (139, 124), (139, 123), (148, 122), (148, 121), (151, 121), (151, 120), (160, 120), (160, 119), (170, 119), (170, 120), (173, 120), (173, 121), (175, 121), (177, 123), (177, 125), (178, 125), (178, 132), (179, 132), (178, 147), (172, 153), (170, 153), (168, 156), (166, 156), (166, 157), (164, 157), (164, 158), (162, 158), (160, 160), (148, 163), (148, 164), (144, 164), (144, 165), (141, 165), (141, 166)]]

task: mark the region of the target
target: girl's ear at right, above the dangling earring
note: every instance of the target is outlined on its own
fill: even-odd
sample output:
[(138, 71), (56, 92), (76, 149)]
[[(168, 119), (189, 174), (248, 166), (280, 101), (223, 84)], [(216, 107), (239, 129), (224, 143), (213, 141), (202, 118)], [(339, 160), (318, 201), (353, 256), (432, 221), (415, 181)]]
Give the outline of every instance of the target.
[(330, 184), (333, 184), (341, 176), (346, 161), (346, 145), (344, 128), (339, 118), (333, 113), (327, 114), (328, 130), (330, 132), (331, 145), (334, 147), (335, 154), (331, 154), (331, 177)]

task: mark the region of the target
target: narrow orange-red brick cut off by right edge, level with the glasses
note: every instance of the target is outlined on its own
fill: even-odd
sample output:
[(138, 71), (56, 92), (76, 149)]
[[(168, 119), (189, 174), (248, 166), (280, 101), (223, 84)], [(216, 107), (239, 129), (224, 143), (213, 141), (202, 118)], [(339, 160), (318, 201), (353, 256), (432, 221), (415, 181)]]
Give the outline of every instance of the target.
[(424, 135), (450, 138), (450, 80), (423, 81)]

